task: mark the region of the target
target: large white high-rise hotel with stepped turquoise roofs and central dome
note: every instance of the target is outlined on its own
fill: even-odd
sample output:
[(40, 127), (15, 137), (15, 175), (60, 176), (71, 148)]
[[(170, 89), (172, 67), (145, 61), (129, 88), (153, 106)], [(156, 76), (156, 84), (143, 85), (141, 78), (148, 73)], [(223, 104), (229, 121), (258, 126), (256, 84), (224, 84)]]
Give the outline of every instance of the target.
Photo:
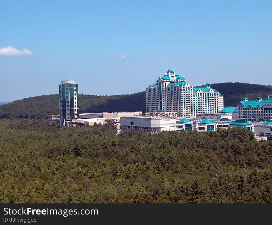
[(192, 117), (196, 113), (214, 113), (224, 108), (223, 96), (211, 88), (193, 87), (184, 76), (168, 70), (155, 84), (146, 89), (146, 111), (177, 112), (178, 117)]

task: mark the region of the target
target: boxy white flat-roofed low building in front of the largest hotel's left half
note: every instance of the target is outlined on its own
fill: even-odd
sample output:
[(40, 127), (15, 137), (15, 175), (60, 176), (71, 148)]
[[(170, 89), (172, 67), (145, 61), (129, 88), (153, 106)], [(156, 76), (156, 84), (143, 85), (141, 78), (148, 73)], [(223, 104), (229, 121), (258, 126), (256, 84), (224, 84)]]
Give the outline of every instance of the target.
[(176, 130), (176, 117), (120, 117), (121, 130), (137, 130), (148, 133)]

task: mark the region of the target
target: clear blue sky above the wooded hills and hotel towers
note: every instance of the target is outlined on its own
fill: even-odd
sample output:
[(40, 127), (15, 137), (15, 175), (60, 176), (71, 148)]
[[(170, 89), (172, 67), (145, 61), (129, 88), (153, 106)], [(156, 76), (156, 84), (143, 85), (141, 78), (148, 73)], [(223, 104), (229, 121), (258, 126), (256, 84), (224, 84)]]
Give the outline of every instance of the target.
[(272, 84), (272, 1), (0, 0), (0, 8), (0, 101), (57, 94), (61, 80), (79, 82), (79, 93), (131, 94), (170, 68), (193, 85)]

